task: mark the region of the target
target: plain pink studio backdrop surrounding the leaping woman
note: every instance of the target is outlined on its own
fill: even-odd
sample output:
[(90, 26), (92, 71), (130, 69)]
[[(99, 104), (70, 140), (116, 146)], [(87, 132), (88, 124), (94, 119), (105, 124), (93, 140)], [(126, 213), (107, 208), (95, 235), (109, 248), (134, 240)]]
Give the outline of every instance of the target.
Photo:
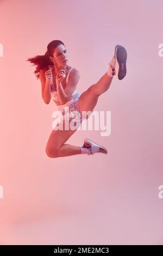
[[(163, 244), (162, 1), (0, 1), (2, 245)], [(108, 155), (50, 159), (52, 113), (28, 57), (61, 40), (80, 71), (78, 92), (108, 69), (116, 44), (127, 48), (127, 76), (99, 97), (111, 135), (77, 131)]]

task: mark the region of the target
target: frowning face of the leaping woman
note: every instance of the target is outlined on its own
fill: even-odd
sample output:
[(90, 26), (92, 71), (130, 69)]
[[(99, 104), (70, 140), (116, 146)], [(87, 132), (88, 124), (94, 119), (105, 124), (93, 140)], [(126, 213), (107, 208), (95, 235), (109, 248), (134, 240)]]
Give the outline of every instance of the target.
[(68, 60), (67, 59), (67, 50), (64, 45), (59, 45), (57, 48), (54, 49), (53, 57), (51, 60), (58, 67), (67, 65), (67, 61), (64, 61), (64, 60)]

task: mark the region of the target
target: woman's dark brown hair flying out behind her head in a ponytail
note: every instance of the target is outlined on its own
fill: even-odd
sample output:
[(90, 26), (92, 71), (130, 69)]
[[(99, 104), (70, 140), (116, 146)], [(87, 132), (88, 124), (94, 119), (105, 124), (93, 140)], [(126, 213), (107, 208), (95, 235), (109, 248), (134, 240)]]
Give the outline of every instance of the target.
[(49, 44), (47, 46), (47, 51), (44, 55), (36, 55), (33, 58), (27, 59), (27, 62), (33, 63), (33, 66), (34, 65), (36, 66), (34, 74), (37, 77), (37, 79), (39, 79), (39, 77), (40, 77), (40, 75), (39, 75), (40, 69), (42, 69), (48, 65), (54, 65), (53, 62), (49, 59), (49, 57), (53, 56), (54, 49), (59, 45), (64, 45), (64, 43), (60, 40), (53, 40), (53, 41), (49, 42)]

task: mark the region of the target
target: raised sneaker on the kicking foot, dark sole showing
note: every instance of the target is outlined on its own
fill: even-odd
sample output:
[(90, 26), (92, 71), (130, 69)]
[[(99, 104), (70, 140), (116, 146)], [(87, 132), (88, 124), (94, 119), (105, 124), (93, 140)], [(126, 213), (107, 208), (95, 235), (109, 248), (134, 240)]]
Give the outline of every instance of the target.
[(126, 60), (127, 60), (127, 51), (126, 49), (121, 45), (116, 45), (115, 47), (115, 58), (117, 60), (116, 63), (116, 71), (117, 71), (117, 77), (119, 80), (122, 80), (127, 73), (126, 70)]

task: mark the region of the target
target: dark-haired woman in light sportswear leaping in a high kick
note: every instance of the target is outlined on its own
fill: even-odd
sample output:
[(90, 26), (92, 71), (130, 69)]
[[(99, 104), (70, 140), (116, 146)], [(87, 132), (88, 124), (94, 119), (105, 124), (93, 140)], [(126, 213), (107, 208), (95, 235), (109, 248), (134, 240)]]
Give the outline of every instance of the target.
[[(114, 56), (109, 62), (108, 71), (97, 83), (92, 84), (85, 92), (79, 94), (77, 93), (77, 84), (80, 73), (67, 64), (67, 50), (62, 41), (53, 40), (48, 44), (45, 55), (37, 55), (27, 59), (27, 61), (36, 65), (34, 73), (37, 79), (40, 78), (41, 81), (43, 101), (48, 104), (52, 97), (59, 110), (67, 106), (69, 112), (78, 111), (81, 115), (81, 122), (83, 120), (82, 112), (93, 111), (99, 95), (109, 89), (112, 78), (116, 76), (119, 80), (122, 80), (126, 76), (126, 60), (126, 49), (117, 45)], [(63, 120), (63, 124), (65, 124), (65, 121), (66, 119)], [(78, 154), (108, 153), (107, 149), (90, 139), (84, 139), (83, 147), (66, 144), (65, 142), (75, 131), (71, 129), (53, 130), (46, 145), (47, 156), (63, 157)]]

